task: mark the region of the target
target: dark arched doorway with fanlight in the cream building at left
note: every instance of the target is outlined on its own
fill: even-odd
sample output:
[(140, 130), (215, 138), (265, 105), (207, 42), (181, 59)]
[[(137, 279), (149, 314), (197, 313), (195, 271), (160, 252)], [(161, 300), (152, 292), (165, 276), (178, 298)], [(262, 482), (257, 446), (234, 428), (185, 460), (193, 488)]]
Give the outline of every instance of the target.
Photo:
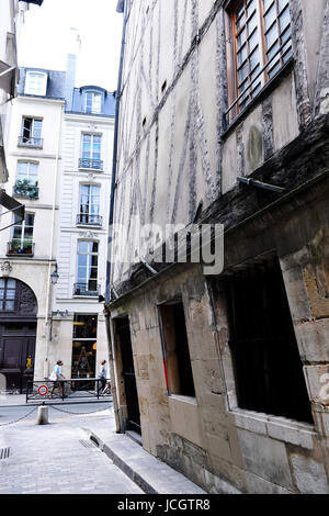
[(0, 373), (8, 391), (22, 393), (33, 379), (37, 301), (31, 288), (0, 278)]

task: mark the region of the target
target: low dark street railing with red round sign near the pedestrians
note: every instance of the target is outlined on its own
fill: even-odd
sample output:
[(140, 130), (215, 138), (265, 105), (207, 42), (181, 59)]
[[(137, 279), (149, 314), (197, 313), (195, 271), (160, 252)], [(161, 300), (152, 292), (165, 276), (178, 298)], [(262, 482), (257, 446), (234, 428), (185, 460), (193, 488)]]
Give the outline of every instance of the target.
[(101, 396), (111, 396), (111, 394), (102, 394), (103, 382), (100, 378), (69, 378), (65, 380), (41, 380), (26, 382), (26, 403), (29, 401), (46, 401), (46, 400), (70, 400), (79, 401), (81, 399), (98, 400)]

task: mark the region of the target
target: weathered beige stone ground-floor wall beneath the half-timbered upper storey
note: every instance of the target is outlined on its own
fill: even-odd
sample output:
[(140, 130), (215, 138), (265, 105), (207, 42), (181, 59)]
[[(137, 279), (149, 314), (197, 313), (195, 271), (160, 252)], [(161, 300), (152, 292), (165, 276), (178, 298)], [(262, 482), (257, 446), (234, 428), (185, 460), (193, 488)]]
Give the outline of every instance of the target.
[[(144, 447), (209, 492), (329, 493), (329, 408), (320, 396), (329, 373), (328, 199), (325, 178), (228, 235), (224, 272), (277, 253), (314, 425), (238, 407), (220, 277), (177, 266), (111, 309), (131, 321)], [(158, 306), (178, 296), (195, 400), (168, 396), (166, 388)]]

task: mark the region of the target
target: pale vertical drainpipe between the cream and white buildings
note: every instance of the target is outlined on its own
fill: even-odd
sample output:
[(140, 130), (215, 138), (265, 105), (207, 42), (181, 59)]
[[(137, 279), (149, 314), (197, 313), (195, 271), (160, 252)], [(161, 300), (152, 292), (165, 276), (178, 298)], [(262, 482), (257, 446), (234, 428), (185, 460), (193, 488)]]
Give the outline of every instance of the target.
[[(53, 316), (49, 317), (49, 310), (53, 304), (53, 291), (52, 291), (52, 266), (53, 266), (53, 254), (54, 254), (54, 233), (55, 233), (55, 215), (56, 215), (56, 194), (57, 194), (57, 181), (58, 181), (58, 167), (59, 167), (59, 154), (60, 154), (60, 142), (61, 142), (61, 120), (63, 120), (64, 104), (60, 105), (59, 120), (58, 120), (58, 141), (57, 141), (57, 153), (55, 159), (55, 184), (53, 191), (53, 207), (52, 207), (52, 226), (50, 226), (50, 244), (49, 244), (49, 258), (48, 258), (48, 277), (47, 277), (47, 293), (46, 293), (46, 318), (45, 318), (45, 337), (46, 337), (46, 354), (44, 361), (44, 378), (47, 379), (49, 375), (49, 340), (50, 340), (50, 327), (53, 324)], [(49, 323), (50, 318), (50, 323)]]

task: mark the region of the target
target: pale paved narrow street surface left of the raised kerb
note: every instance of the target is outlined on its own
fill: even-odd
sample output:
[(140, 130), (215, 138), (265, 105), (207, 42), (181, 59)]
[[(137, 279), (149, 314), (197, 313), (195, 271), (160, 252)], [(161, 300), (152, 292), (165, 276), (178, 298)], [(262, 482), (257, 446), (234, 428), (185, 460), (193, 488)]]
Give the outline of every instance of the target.
[[(1, 406), (0, 425), (32, 408)], [(83, 404), (63, 408), (91, 413), (102, 407)], [(143, 494), (82, 430), (113, 426), (112, 408), (72, 415), (49, 407), (50, 424), (45, 426), (35, 424), (36, 414), (0, 426), (0, 451), (10, 448), (9, 457), (0, 459), (0, 494)]]

